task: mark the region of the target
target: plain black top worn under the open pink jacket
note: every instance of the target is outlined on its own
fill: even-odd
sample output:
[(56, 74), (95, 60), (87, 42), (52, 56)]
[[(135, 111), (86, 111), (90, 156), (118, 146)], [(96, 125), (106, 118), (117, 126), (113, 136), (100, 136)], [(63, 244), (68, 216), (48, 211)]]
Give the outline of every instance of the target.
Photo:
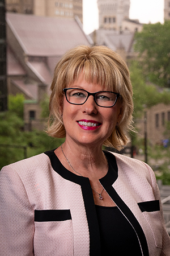
[(100, 230), (101, 256), (139, 256), (135, 231), (118, 207), (95, 205)]

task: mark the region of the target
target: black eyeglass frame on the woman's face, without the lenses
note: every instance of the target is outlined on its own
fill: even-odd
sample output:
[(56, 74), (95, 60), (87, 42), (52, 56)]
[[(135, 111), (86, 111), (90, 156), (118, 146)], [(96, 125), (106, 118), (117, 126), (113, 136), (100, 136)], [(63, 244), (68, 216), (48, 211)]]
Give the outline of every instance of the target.
[(96, 98), (95, 98), (96, 94), (97, 94), (97, 93), (101, 93), (101, 92), (108, 92), (108, 93), (114, 93), (114, 94), (116, 94), (116, 100), (114, 101), (114, 104), (113, 104), (112, 106), (100, 106), (100, 107), (101, 107), (101, 108), (112, 108), (112, 107), (116, 104), (116, 102), (117, 102), (117, 100), (118, 100), (118, 97), (121, 96), (120, 93), (110, 92), (110, 91), (108, 91), (108, 90), (100, 90), (99, 92), (95, 92), (95, 93), (90, 93), (90, 92), (88, 92), (87, 90), (84, 90), (84, 92), (87, 92), (87, 98), (86, 98), (86, 100), (85, 100), (83, 103), (72, 103), (72, 102), (70, 102), (70, 101), (67, 99), (67, 90), (70, 90), (70, 89), (78, 89), (78, 90), (84, 90), (84, 89), (80, 89), (80, 88), (63, 88), (63, 89), (62, 89), (63, 92), (65, 93), (65, 97), (66, 97), (67, 102), (69, 102), (70, 104), (73, 104), (73, 105), (83, 105), (83, 104), (88, 100), (88, 97), (92, 95), (92, 96), (94, 96), (94, 101), (95, 101), (96, 105), (97, 105), (97, 106), (100, 106), (100, 105), (97, 104), (97, 102), (96, 102)]

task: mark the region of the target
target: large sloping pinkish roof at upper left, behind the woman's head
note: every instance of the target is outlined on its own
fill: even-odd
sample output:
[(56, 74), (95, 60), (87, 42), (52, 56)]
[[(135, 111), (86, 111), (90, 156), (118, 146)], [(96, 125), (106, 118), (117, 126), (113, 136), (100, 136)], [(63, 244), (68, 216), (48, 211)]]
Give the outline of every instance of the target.
[(79, 44), (90, 44), (75, 19), (6, 13), (6, 22), (29, 56), (61, 56)]

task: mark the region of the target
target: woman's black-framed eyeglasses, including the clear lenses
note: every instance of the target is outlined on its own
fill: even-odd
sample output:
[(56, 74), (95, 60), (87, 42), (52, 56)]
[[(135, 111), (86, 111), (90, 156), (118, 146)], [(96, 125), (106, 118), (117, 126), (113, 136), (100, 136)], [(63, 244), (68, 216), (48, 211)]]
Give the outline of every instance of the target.
[(70, 104), (74, 105), (83, 105), (89, 96), (94, 96), (94, 100), (98, 106), (103, 108), (111, 108), (117, 102), (119, 93), (101, 91), (96, 93), (87, 92), (87, 90), (79, 88), (64, 88), (63, 92), (65, 93), (66, 100)]

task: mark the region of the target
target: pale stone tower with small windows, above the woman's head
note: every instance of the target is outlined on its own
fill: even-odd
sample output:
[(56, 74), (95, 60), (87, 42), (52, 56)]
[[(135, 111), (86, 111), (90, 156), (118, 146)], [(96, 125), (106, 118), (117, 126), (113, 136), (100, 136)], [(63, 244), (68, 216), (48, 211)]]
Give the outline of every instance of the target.
[(90, 34), (94, 44), (108, 46), (125, 61), (134, 56), (133, 39), (143, 25), (129, 19), (130, 0), (98, 0), (99, 30)]

